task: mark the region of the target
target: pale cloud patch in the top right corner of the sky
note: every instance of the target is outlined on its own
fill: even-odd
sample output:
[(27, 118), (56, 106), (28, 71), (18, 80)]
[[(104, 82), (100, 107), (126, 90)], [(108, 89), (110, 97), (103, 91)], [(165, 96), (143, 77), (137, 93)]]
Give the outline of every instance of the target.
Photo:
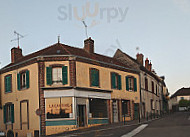
[(185, 12), (185, 13), (189, 13), (190, 12), (190, 0), (173, 0), (173, 2), (183, 12)]

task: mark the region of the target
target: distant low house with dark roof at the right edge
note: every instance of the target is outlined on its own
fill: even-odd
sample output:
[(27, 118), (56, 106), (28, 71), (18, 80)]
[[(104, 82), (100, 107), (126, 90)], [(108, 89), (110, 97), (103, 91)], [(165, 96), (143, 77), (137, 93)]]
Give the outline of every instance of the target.
[[(171, 111), (179, 111), (179, 101), (180, 100), (190, 100), (190, 88), (181, 88), (177, 90), (171, 97), (169, 101), (169, 109)], [(182, 108), (183, 109), (183, 108)]]

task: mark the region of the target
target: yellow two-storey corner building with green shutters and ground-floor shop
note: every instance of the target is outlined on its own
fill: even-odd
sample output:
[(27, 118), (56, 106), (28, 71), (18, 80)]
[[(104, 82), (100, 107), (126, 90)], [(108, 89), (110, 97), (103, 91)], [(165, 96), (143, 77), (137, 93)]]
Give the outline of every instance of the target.
[[(159, 104), (159, 77), (146, 69), (141, 73), (155, 85), (146, 98)], [(91, 38), (84, 48), (58, 42), (25, 56), (12, 48), (11, 63), (0, 70), (0, 130), (39, 136), (119, 122), (124, 115), (137, 119), (140, 90), (140, 71), (95, 53)]]

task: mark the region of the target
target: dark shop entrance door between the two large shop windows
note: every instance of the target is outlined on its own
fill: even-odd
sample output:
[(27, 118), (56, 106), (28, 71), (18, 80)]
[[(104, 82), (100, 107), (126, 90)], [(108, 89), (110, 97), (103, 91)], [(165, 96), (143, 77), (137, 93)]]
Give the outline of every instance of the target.
[(78, 105), (78, 126), (84, 127), (85, 126), (85, 113), (86, 107), (85, 105)]

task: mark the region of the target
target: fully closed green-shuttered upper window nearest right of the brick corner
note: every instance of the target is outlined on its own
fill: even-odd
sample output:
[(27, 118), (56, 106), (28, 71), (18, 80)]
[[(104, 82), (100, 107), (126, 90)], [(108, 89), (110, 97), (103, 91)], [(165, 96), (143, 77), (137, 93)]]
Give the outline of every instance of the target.
[(99, 70), (95, 68), (90, 68), (90, 86), (99, 87), (100, 86), (99, 79)]

